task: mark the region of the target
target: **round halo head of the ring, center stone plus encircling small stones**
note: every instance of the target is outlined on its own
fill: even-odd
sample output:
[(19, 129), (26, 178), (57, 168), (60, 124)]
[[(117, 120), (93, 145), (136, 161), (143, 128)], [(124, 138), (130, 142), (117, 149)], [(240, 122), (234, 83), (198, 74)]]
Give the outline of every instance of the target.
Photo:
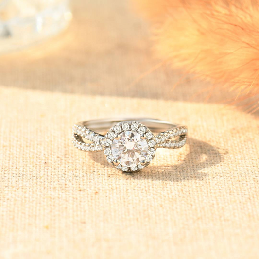
[(122, 171), (140, 170), (155, 156), (154, 135), (136, 121), (118, 123), (107, 132), (103, 143), (107, 161)]

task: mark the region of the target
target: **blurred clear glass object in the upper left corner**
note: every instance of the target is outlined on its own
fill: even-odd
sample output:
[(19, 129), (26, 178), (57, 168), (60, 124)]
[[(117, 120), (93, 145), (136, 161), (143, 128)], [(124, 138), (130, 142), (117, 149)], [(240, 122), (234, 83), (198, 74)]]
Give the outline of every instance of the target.
[(56, 35), (70, 18), (68, 0), (1, 0), (0, 52), (17, 51)]

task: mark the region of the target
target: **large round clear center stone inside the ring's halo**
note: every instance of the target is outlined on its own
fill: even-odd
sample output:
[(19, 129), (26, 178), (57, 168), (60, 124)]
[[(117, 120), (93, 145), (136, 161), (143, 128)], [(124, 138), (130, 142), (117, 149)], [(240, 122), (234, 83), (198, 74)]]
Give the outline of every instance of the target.
[(137, 166), (140, 161), (145, 160), (148, 155), (148, 143), (139, 133), (124, 131), (119, 136), (120, 139), (113, 140), (111, 152), (122, 166)]

